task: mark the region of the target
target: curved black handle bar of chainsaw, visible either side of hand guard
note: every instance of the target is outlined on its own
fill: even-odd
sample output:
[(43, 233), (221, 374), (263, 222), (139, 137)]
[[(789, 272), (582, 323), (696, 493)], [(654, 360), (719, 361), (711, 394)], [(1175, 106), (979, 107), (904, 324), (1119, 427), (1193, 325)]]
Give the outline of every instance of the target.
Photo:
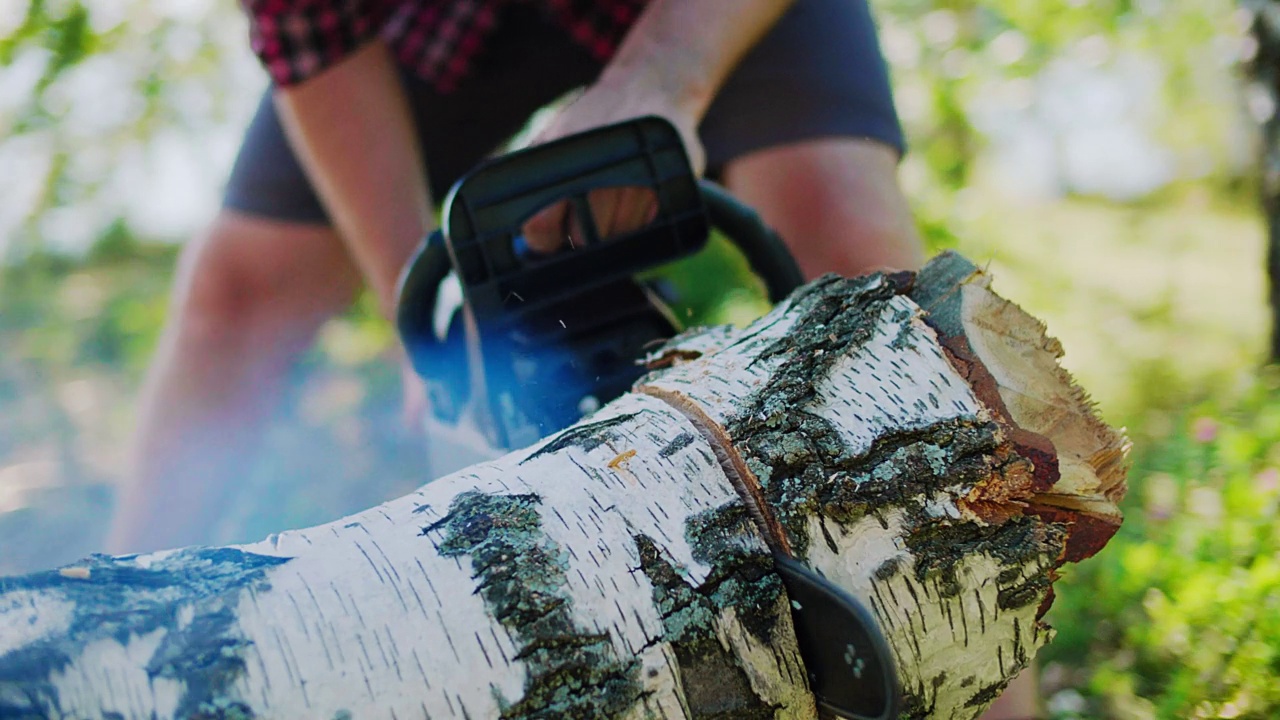
[[(759, 213), (710, 181), (699, 181), (698, 190), (710, 227), (739, 249), (751, 272), (764, 283), (771, 302), (782, 301), (804, 283), (795, 258), (778, 233), (764, 224)], [(401, 279), (397, 327), (413, 368), (421, 375), (449, 372), (426, 357), (444, 343), (443, 332), (438, 333), (435, 328), (435, 304), (440, 284), (451, 272), (453, 263), (444, 236), (435, 231), (419, 247)]]

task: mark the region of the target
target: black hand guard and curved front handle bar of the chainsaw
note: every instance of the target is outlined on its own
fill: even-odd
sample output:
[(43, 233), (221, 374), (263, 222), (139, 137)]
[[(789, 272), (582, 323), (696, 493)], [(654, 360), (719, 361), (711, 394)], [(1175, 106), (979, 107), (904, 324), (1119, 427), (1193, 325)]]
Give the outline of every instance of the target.
[[(653, 222), (600, 238), (588, 193), (611, 187), (653, 192)], [(522, 227), (539, 210), (567, 201), (585, 231), (572, 249), (531, 254)], [(508, 328), (548, 306), (691, 255), (719, 229), (781, 301), (803, 283), (786, 245), (751, 208), (694, 174), (678, 132), (645, 117), (591, 129), (485, 161), (463, 176), (444, 202), (440, 229), (424, 241), (402, 281), (397, 316), (415, 368), (442, 342), (435, 331), (439, 288), (456, 272), (479, 324)]]

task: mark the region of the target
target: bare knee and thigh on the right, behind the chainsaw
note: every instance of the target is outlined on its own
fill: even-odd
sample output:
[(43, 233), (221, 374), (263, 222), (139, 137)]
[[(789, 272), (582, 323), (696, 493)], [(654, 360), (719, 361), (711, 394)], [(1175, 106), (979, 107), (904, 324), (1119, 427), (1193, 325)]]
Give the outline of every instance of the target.
[(724, 183), (782, 233), (808, 278), (923, 263), (897, 154), (886, 145), (824, 138), (769, 147), (730, 163)]

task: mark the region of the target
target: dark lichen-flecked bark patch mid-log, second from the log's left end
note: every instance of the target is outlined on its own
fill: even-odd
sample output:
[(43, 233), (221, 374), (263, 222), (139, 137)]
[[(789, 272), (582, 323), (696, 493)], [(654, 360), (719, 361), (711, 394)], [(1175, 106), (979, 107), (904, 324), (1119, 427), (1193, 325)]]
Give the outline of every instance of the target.
[(640, 662), (620, 659), (607, 634), (573, 624), (568, 556), (543, 532), (540, 502), (536, 495), (466, 492), (424, 534), (443, 533), (444, 557), (471, 557), (477, 592), (518, 643), (525, 694), (500, 701), (502, 717), (622, 715), (644, 692)]

